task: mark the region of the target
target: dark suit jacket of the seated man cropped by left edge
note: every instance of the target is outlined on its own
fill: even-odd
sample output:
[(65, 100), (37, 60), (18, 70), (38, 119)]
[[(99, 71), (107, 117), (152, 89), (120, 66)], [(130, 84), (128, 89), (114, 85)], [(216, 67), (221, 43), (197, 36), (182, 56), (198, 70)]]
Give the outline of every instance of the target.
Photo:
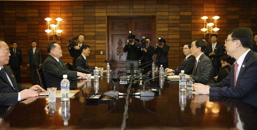
[(7, 75), (9, 76), (15, 90), (12, 88), (11, 83), (6, 79), (4, 74), (0, 72), (0, 106), (11, 106), (18, 103), (18, 93), (21, 90), (29, 89), (17, 84), (14, 73), (8, 66), (3, 66)]

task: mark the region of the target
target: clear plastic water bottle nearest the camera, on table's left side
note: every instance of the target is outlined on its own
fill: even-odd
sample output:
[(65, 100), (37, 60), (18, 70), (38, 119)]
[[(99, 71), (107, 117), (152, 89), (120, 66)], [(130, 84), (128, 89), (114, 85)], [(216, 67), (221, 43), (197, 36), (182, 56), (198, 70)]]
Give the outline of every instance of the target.
[(63, 80), (61, 81), (61, 101), (69, 100), (69, 80), (67, 75), (63, 75)]

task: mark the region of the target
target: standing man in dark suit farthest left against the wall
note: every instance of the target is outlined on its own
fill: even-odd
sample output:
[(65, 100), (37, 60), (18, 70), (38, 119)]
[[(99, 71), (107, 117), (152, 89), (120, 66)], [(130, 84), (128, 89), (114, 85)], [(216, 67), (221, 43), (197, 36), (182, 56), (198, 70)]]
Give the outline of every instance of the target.
[(8, 67), (13, 71), (17, 83), (21, 84), (22, 53), (21, 49), (17, 49), (17, 44), (17, 42), (11, 43), (12, 49), (10, 49), (11, 56)]

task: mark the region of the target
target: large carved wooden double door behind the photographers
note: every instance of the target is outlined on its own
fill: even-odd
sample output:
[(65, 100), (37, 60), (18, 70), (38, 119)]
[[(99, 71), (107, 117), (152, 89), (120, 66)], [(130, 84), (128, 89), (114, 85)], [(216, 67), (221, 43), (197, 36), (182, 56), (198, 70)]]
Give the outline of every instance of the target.
[[(135, 38), (151, 38), (151, 46), (155, 47), (156, 16), (107, 16), (107, 60), (119, 67), (126, 67), (127, 52), (123, 52), (129, 31)], [(153, 60), (154, 56), (153, 56)], [(115, 67), (115, 66), (113, 66)]]

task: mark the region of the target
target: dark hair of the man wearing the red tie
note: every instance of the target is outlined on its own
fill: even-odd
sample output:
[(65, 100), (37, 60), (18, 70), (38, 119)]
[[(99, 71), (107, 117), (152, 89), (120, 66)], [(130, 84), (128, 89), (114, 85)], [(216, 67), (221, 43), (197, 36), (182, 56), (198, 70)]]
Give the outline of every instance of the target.
[(231, 30), (228, 35), (231, 35), (232, 40), (239, 40), (244, 48), (252, 48), (253, 31), (250, 28), (236, 28)]

